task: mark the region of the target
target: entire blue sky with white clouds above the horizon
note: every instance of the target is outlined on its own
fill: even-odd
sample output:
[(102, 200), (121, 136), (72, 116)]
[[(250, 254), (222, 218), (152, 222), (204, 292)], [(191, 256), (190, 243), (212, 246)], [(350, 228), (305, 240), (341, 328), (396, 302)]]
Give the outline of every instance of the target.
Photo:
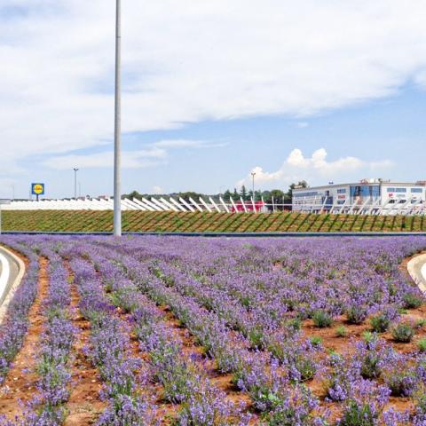
[[(0, 197), (112, 193), (114, 0), (0, 2)], [(424, 0), (123, 0), (123, 191), (426, 179)]]

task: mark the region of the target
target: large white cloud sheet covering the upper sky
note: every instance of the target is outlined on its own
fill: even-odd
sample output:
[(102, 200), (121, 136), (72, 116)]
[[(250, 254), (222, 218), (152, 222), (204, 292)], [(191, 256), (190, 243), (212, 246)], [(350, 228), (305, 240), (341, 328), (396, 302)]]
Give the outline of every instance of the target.
[[(11, 6), (21, 12), (0, 13), (4, 171), (33, 154), (104, 145), (113, 134), (114, 4), (0, 8)], [(422, 84), (425, 14), (422, 0), (128, 0), (123, 131), (309, 116)]]

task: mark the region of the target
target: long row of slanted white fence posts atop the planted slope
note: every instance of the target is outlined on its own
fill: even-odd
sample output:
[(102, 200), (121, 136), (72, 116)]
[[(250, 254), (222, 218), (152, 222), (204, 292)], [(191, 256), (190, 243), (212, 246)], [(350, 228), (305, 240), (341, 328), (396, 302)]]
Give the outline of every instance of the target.
[[(42, 200), (42, 201), (12, 201), (8, 205), (2, 206), (3, 210), (112, 210), (114, 209), (113, 199), (85, 199), (85, 200)], [(198, 201), (189, 198), (154, 198), (149, 200), (143, 198), (123, 199), (122, 210), (143, 210), (143, 211), (176, 211), (176, 212), (226, 212), (226, 213), (259, 213), (276, 212), (280, 210), (294, 210), (304, 213), (330, 213), (330, 214), (353, 214), (353, 215), (403, 215), (413, 216), (426, 214), (426, 205), (420, 200), (398, 201), (390, 199), (382, 204), (381, 200), (365, 201), (362, 204), (327, 204), (315, 203), (307, 204), (297, 202), (296, 204), (265, 203), (264, 201), (237, 201), (230, 198), (225, 202), (222, 197), (219, 201), (214, 201), (211, 197), (204, 200), (201, 197)]]

